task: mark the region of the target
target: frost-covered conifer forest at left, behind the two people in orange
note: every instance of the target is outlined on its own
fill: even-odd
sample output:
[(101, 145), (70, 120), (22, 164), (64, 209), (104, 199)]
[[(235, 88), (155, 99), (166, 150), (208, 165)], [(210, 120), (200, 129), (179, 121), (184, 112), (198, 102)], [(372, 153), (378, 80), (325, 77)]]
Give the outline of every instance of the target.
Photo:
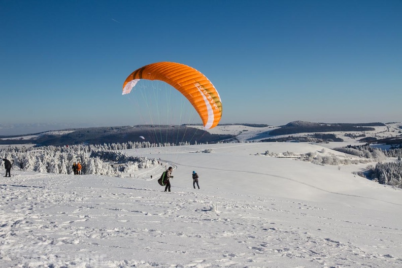
[[(137, 171), (157, 165), (156, 159), (132, 157), (122, 154), (118, 148), (151, 146), (149, 143), (6, 147), (0, 149), (0, 157), (12, 161), (13, 169), (41, 173), (72, 174), (74, 162), (82, 165), (82, 174), (121, 176), (122, 172)], [(121, 163), (113, 168), (109, 162)]]

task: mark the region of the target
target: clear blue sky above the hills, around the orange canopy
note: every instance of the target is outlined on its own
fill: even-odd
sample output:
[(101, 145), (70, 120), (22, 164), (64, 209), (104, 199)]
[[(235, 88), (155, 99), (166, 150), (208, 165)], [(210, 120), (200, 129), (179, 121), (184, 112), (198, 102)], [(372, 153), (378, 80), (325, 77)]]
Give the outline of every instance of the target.
[(0, 135), (141, 124), (122, 84), (158, 61), (205, 74), (221, 123), (402, 121), (400, 0), (0, 0)]

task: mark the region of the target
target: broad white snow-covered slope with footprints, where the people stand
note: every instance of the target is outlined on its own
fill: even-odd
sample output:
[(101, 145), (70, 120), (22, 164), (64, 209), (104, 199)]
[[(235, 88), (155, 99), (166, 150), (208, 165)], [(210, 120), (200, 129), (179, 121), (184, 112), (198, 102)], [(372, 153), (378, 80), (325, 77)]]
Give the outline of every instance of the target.
[[(366, 164), (261, 155), (323, 148), (127, 150), (162, 165), (121, 178), (12, 170), (0, 183), (0, 267), (401, 267), (400, 189), (351, 173)], [(172, 192), (156, 181), (165, 164)]]

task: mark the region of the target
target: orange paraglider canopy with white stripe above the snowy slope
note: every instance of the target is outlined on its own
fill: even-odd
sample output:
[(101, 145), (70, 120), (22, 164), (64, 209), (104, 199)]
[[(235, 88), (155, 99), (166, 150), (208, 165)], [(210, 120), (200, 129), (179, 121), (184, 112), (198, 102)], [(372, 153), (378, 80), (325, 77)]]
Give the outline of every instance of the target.
[(219, 93), (208, 78), (194, 68), (168, 61), (145, 65), (126, 78), (122, 94), (130, 93), (141, 79), (160, 80), (176, 88), (194, 107), (205, 129), (213, 128), (219, 123), (222, 117)]

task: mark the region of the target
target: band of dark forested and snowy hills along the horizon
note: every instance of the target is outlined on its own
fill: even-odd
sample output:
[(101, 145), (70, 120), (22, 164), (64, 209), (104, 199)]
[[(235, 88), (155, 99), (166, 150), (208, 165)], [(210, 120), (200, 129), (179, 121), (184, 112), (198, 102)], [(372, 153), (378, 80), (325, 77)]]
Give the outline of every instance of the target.
[[(116, 127), (69, 128), (30, 135), (2, 136), (0, 145), (34, 144), (38, 146), (112, 144), (126, 142), (150, 143), (218, 143), (218, 142), (342, 142), (344, 137), (360, 138), (360, 142), (400, 144), (400, 123), (314, 123), (293, 121), (280, 127), (267, 124), (219, 124), (211, 130), (204, 130), (199, 124), (192, 126), (136, 125)], [(198, 126), (198, 127), (195, 127)], [(220, 126), (220, 127), (219, 127)], [(385, 128), (381, 128), (384, 127)], [(364, 131), (382, 130), (370, 133)], [(342, 136), (336, 132), (344, 133)], [(398, 133), (399, 132), (399, 133)], [(304, 135), (297, 135), (304, 133)], [(295, 135), (293, 135), (295, 134)], [(278, 137), (279, 136), (279, 137)], [(287, 137), (286, 137), (287, 136)], [(141, 137), (144, 137), (141, 138)], [(364, 139), (363, 139), (364, 138)]]

